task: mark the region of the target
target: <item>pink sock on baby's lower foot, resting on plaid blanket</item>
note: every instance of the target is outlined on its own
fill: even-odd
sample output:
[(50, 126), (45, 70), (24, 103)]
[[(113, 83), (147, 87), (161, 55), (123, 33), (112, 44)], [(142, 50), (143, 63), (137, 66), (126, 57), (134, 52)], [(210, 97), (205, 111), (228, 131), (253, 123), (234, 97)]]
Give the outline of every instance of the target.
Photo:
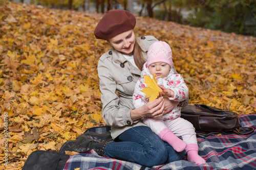
[(187, 160), (190, 162), (194, 162), (197, 165), (204, 164), (206, 161), (198, 155), (198, 145), (194, 143), (187, 144), (185, 148), (187, 152)]

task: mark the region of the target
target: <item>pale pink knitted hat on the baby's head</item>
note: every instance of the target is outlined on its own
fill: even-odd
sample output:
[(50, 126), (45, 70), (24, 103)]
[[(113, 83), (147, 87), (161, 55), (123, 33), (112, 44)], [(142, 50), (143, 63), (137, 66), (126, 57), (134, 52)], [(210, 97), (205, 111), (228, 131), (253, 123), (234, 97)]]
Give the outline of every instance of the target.
[(166, 42), (157, 41), (148, 48), (146, 67), (156, 62), (167, 63), (173, 68), (173, 53)]

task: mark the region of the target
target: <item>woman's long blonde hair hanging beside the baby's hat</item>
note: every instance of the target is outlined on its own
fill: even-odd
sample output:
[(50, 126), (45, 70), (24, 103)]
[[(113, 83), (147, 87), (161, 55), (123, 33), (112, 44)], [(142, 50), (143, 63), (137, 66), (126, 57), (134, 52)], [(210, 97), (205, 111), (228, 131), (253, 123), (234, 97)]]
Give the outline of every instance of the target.
[(144, 52), (139, 43), (138, 43), (138, 37), (135, 38), (135, 44), (134, 44), (134, 50), (133, 50), (133, 56), (134, 56), (134, 62), (139, 68), (140, 71), (142, 71), (143, 64), (146, 62), (146, 60), (143, 58), (143, 54), (146, 53)]

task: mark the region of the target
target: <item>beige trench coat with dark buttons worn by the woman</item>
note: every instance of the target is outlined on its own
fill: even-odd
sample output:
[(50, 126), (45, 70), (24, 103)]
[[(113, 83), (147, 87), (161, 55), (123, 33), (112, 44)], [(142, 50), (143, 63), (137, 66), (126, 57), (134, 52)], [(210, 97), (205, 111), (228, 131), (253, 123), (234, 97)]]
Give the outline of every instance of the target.
[[(158, 41), (153, 36), (140, 37), (137, 40), (145, 52), (152, 43)], [(146, 54), (143, 57), (146, 58)], [(131, 110), (134, 109), (133, 92), (140, 79), (140, 74), (141, 71), (127, 61), (115, 48), (111, 48), (99, 59), (98, 76), (102, 117), (106, 125), (111, 126), (113, 139), (132, 127), (146, 126), (140, 119), (135, 121), (131, 119)]]

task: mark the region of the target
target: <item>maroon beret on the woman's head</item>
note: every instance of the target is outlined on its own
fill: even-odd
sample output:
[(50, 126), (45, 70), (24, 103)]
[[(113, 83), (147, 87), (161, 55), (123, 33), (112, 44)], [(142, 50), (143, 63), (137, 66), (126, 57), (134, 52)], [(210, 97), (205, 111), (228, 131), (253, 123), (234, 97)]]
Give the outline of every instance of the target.
[(110, 10), (100, 19), (94, 30), (97, 39), (108, 40), (125, 31), (134, 29), (136, 18), (126, 10)]

